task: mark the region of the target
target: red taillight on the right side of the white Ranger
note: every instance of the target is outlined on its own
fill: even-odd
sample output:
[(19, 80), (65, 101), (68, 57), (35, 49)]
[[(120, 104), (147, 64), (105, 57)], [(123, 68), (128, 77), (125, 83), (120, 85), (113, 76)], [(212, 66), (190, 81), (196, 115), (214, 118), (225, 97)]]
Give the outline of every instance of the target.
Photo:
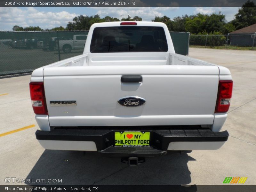
[(232, 96), (232, 89), (232, 80), (220, 80), (215, 113), (224, 113), (228, 111)]

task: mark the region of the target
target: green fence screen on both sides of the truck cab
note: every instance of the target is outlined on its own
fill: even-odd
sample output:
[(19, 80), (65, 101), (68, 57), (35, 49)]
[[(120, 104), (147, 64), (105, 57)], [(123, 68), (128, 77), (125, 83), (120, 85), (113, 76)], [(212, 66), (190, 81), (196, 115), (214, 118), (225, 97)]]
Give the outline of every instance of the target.
[[(88, 31), (1, 31), (0, 76), (34, 69), (83, 53)], [(188, 55), (188, 33), (170, 32), (175, 52)]]

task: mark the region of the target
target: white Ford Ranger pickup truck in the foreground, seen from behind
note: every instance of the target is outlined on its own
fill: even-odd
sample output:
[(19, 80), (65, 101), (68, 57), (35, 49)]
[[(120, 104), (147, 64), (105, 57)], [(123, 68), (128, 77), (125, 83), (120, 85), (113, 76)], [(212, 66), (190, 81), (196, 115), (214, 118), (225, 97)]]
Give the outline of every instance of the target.
[(82, 55), (36, 69), (30, 95), (45, 149), (141, 158), (213, 150), (232, 94), (230, 71), (176, 54), (165, 24), (93, 24)]

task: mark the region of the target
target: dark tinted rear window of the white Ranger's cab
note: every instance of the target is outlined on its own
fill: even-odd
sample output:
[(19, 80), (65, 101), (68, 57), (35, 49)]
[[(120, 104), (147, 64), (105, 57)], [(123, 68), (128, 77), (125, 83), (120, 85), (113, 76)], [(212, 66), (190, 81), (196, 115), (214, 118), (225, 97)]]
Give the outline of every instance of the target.
[(90, 52), (167, 52), (163, 27), (121, 26), (94, 28)]

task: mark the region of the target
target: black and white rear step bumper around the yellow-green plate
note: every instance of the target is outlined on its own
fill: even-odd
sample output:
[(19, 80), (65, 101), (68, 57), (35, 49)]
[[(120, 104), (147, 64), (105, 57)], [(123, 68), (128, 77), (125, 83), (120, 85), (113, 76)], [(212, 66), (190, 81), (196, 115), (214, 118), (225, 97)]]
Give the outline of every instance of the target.
[(199, 126), (147, 126), (151, 129), (139, 126), (136, 130), (150, 132), (150, 147), (134, 147), (136, 150), (131, 152), (129, 147), (114, 146), (114, 133), (132, 128), (100, 128), (103, 127), (37, 130), (36, 139), (45, 149), (99, 151), (107, 156), (160, 156), (167, 150), (215, 150), (228, 140), (227, 131), (212, 132), (211, 129)]

